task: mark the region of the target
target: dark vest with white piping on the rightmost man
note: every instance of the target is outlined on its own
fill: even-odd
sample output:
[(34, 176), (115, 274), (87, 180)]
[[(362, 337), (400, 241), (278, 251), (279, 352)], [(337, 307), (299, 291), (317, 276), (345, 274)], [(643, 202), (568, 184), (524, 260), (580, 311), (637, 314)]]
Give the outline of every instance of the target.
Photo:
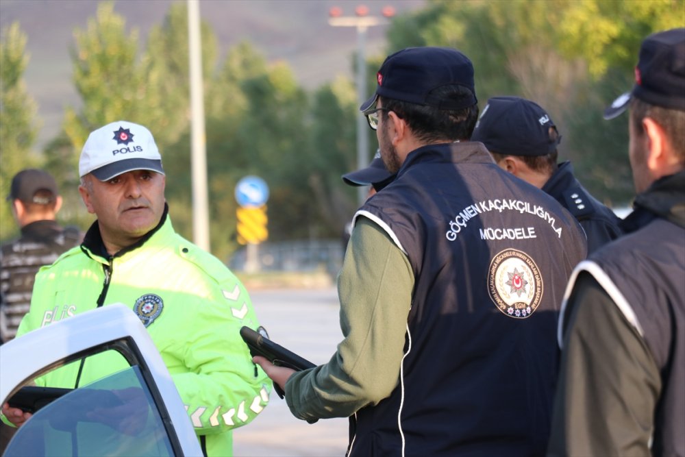
[[(684, 177), (680, 173), (678, 186), (683, 185)], [(685, 190), (679, 187), (676, 192), (677, 195), (669, 198), (652, 193), (653, 206), (680, 205), (682, 214)], [(644, 214), (638, 208), (633, 219), (639, 220)], [(640, 224), (641, 227), (634, 227), (638, 229), (636, 232), (604, 247), (590, 260), (610, 277), (635, 313), (635, 325), (661, 373), (662, 390), (654, 411), (652, 454), (684, 456), (685, 227), (682, 221), (653, 218)]]

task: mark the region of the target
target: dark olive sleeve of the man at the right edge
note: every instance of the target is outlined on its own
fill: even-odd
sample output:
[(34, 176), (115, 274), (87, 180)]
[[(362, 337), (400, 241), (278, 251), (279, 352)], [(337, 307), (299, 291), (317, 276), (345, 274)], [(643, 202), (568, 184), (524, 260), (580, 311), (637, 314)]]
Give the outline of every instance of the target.
[(589, 273), (567, 306), (547, 456), (650, 456), (661, 378), (649, 348)]

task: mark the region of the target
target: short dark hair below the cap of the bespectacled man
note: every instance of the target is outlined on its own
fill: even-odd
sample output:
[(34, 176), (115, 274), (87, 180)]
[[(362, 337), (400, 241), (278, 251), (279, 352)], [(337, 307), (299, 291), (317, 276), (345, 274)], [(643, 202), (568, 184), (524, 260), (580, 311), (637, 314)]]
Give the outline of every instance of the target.
[[(458, 100), (473, 97), (473, 92), (459, 84), (447, 84), (433, 90), (431, 95), (439, 99)], [(379, 99), (383, 108), (395, 112), (409, 125), (414, 136), (424, 143), (469, 140), (478, 120), (477, 104), (460, 110), (439, 110), (387, 97)], [(388, 118), (388, 111), (382, 111), (384, 121)]]

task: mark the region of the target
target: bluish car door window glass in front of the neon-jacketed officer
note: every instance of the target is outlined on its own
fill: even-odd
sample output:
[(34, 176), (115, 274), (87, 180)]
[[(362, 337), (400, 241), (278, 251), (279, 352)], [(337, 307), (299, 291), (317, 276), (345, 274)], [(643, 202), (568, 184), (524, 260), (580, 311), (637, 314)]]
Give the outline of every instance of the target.
[(172, 456), (173, 451), (160, 412), (134, 366), (40, 408), (17, 430), (4, 454), (38, 455)]

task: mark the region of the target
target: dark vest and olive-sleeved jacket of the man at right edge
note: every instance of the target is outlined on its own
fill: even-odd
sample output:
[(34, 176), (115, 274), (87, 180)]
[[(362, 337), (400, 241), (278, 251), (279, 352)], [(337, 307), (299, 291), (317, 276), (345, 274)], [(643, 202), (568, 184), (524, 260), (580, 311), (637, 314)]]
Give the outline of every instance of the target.
[[(685, 171), (662, 177), (638, 195), (634, 212), (622, 226), (624, 236), (578, 266), (560, 320), (564, 351), (576, 351), (564, 356), (569, 365), (605, 367), (611, 358), (608, 371), (616, 374), (606, 375), (600, 368), (595, 379), (586, 381), (587, 388), (574, 389), (567, 384), (578, 384), (582, 374), (564, 375), (562, 367), (549, 455), (575, 450), (588, 455), (685, 456)], [(581, 321), (577, 315), (588, 309), (613, 311), (619, 319), (605, 318), (601, 332), (583, 336), (595, 319), (590, 315)], [(611, 338), (595, 341), (600, 334)], [(612, 390), (609, 382), (617, 387)], [(643, 395), (634, 395), (640, 391)], [(606, 404), (593, 402), (607, 396)], [(588, 414), (569, 407), (576, 404), (586, 404)], [(591, 433), (598, 430), (593, 420), (606, 428)]]

